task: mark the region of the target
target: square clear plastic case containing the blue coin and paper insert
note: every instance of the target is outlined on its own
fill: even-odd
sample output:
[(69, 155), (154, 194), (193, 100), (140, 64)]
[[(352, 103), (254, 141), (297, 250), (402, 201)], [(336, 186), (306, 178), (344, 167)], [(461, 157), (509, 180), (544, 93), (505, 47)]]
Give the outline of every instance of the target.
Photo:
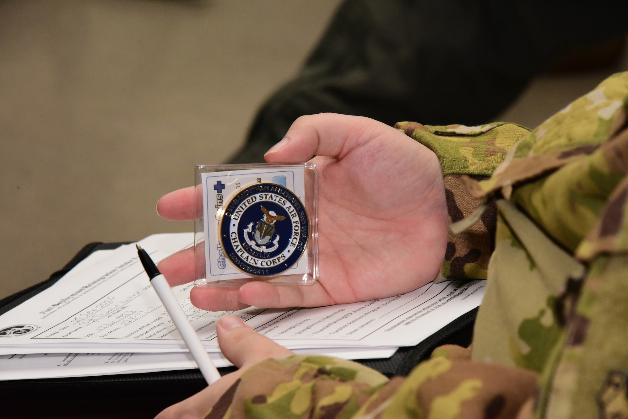
[(194, 172), (195, 286), (318, 280), (315, 164), (201, 164)]

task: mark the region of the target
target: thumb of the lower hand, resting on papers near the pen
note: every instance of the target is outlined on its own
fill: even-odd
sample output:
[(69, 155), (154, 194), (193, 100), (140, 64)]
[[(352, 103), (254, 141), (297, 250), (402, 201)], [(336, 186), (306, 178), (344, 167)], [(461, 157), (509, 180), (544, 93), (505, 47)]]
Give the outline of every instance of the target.
[(224, 356), (238, 368), (248, 368), (266, 358), (278, 358), (293, 354), (257, 333), (237, 316), (225, 316), (216, 326), (218, 345)]

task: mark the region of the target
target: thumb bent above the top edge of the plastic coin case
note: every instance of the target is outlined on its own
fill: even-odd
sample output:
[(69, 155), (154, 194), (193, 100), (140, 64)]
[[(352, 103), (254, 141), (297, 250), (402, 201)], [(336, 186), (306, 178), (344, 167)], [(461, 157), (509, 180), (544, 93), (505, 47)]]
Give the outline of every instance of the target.
[(365, 117), (307, 115), (292, 124), (284, 139), (271, 147), (264, 159), (268, 163), (303, 162), (315, 155), (342, 159), (355, 147), (387, 131), (401, 134), (393, 127)]

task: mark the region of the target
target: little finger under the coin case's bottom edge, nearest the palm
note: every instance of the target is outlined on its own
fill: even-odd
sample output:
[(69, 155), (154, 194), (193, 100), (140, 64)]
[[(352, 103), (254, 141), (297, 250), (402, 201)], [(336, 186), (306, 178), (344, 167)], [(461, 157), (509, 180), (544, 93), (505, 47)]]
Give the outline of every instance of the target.
[(319, 307), (336, 304), (320, 282), (312, 285), (271, 285), (249, 282), (242, 285), (237, 299), (255, 307)]

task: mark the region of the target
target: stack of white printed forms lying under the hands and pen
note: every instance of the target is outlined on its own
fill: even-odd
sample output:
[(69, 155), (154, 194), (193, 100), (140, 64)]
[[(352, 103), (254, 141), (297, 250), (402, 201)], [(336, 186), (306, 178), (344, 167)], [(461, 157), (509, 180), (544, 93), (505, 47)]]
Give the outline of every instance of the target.
[[(192, 243), (192, 233), (139, 241), (155, 262)], [(485, 281), (430, 283), (403, 295), (314, 309), (237, 312), (194, 307), (191, 287), (173, 291), (216, 366), (227, 366), (215, 324), (228, 314), (297, 353), (388, 358), (477, 307)], [(0, 379), (186, 368), (196, 364), (151, 288), (134, 245), (92, 253), (57, 284), (0, 316)]]

